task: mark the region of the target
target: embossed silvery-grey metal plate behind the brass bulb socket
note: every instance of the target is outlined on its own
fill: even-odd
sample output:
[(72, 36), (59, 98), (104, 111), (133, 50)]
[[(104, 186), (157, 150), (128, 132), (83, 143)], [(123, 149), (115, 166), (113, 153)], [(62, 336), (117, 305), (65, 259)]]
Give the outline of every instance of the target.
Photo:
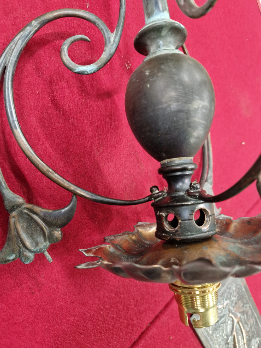
[(217, 308), (216, 324), (195, 329), (205, 348), (261, 347), (261, 317), (245, 279), (230, 277), (221, 282)]

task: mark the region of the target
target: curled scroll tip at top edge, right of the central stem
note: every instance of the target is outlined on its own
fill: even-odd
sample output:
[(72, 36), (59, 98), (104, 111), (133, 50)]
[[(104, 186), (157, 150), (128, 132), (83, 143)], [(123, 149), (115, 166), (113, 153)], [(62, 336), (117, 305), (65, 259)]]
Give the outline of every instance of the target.
[(217, 0), (208, 0), (203, 6), (198, 6), (194, 0), (176, 0), (176, 2), (186, 16), (200, 18), (212, 9)]

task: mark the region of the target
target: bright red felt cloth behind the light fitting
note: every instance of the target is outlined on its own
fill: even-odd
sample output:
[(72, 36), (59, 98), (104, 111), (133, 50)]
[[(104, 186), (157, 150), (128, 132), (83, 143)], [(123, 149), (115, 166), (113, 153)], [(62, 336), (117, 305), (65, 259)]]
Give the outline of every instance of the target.
[[(35, 17), (66, 7), (87, 10), (87, 5), (114, 30), (117, 0), (1, 0), (0, 51)], [(218, 0), (201, 19), (187, 18), (174, 0), (169, 0), (169, 10), (171, 18), (187, 28), (190, 55), (205, 66), (214, 84), (214, 192), (220, 193), (260, 153), (260, 11), (256, 0)], [(141, 198), (150, 186), (165, 185), (157, 174), (159, 163), (137, 143), (124, 111), (127, 81), (143, 60), (133, 48), (143, 25), (142, 1), (128, 0), (116, 54), (99, 72), (80, 76), (60, 61), (63, 41), (87, 35), (91, 42), (73, 44), (69, 55), (76, 63), (88, 64), (102, 53), (102, 35), (82, 19), (58, 19), (30, 40), (15, 74), (18, 118), (35, 152), (66, 179), (113, 198)], [(45, 208), (67, 205), (71, 193), (38, 172), (16, 144), (5, 116), (2, 81), (0, 103), (0, 166), (10, 189)], [(199, 177), (200, 153), (196, 161)], [(218, 206), (234, 218), (253, 216), (260, 213), (261, 200), (252, 184)], [(8, 222), (2, 200), (0, 211), (2, 247)], [(138, 221), (155, 221), (150, 203), (117, 207), (78, 198), (62, 241), (48, 250), (53, 263), (37, 254), (30, 264), (16, 260), (1, 266), (1, 347), (201, 347), (192, 329), (180, 323), (166, 284), (139, 283), (100, 268), (74, 269), (87, 260), (79, 248), (133, 230)], [(260, 275), (247, 279), (259, 309), (260, 280)]]

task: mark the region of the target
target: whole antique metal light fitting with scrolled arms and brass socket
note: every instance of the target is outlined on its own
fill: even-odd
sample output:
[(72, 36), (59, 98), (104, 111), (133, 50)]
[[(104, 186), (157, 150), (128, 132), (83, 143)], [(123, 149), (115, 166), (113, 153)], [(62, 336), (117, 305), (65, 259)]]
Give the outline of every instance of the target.
[[(198, 7), (192, 0), (176, 1), (191, 18), (204, 16), (216, 2), (208, 0)], [(167, 181), (168, 188), (160, 191), (152, 186), (150, 195), (133, 201), (98, 196), (66, 181), (34, 153), (17, 120), (13, 100), (13, 77), (23, 48), (42, 26), (54, 19), (86, 19), (103, 34), (102, 56), (86, 66), (73, 63), (68, 56), (70, 45), (77, 40), (89, 41), (84, 35), (76, 35), (63, 43), (61, 60), (73, 72), (92, 74), (108, 63), (117, 49), (124, 24), (125, 0), (120, 0), (119, 19), (113, 33), (101, 19), (84, 10), (61, 9), (44, 14), (26, 25), (10, 42), (0, 58), (0, 75), (6, 67), (6, 113), (17, 143), (40, 172), (72, 192), (73, 198), (70, 205), (60, 211), (25, 204), (8, 189), (1, 175), (0, 190), (10, 219), (0, 262), (20, 258), (29, 263), (35, 253), (41, 252), (52, 261), (47, 248), (62, 238), (60, 228), (72, 219), (76, 209), (75, 195), (112, 205), (153, 201), (156, 223), (139, 222), (134, 232), (105, 237), (104, 241), (109, 244), (81, 250), (86, 256), (97, 256), (99, 260), (76, 267), (100, 266), (121, 277), (167, 283), (175, 294), (181, 321), (188, 325), (188, 313), (196, 314), (193, 326), (203, 328), (218, 320), (217, 290), (222, 279), (246, 277), (261, 271), (260, 216), (232, 220), (218, 214), (214, 205), (235, 196), (256, 179), (261, 192), (261, 156), (234, 186), (213, 196), (209, 129), (215, 94), (211, 79), (205, 68), (189, 56), (184, 45), (187, 30), (170, 19), (167, 0), (143, 0), (143, 7), (146, 24), (137, 34), (134, 47), (146, 57), (128, 81), (125, 110), (137, 141), (160, 162), (158, 173)], [(191, 182), (197, 168), (193, 157), (202, 146), (204, 161), (200, 182)]]

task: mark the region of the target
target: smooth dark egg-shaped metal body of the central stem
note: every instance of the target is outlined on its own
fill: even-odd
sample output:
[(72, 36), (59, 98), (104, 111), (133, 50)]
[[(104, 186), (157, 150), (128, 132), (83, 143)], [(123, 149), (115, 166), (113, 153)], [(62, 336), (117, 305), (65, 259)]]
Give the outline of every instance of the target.
[(164, 51), (138, 66), (125, 95), (130, 128), (158, 161), (195, 156), (208, 135), (215, 109), (206, 69), (190, 56)]

